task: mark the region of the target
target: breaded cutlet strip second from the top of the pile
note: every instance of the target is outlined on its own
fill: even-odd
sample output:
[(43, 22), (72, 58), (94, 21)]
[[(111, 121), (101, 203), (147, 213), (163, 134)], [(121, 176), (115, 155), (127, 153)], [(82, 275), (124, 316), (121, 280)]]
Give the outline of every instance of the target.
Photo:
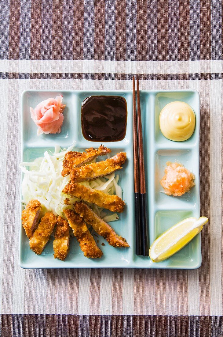
[(99, 177), (107, 176), (117, 170), (126, 161), (126, 153), (117, 153), (114, 157), (97, 163), (91, 163), (81, 167), (72, 168), (70, 171), (70, 178), (75, 183), (80, 183), (85, 180), (92, 180)]

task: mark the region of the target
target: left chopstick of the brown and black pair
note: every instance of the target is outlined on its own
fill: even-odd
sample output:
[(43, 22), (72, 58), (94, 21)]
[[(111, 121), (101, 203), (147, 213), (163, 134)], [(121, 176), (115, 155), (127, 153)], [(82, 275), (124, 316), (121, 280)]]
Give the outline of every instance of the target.
[(142, 247), (142, 227), (140, 223), (139, 154), (138, 154), (138, 132), (137, 132), (137, 113), (136, 113), (134, 76), (133, 76), (133, 156), (134, 156), (136, 255), (142, 255), (143, 247)]

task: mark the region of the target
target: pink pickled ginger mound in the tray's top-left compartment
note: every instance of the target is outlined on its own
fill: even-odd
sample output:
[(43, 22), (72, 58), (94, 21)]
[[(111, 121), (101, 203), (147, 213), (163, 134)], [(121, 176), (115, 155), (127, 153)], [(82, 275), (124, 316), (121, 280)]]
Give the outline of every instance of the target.
[(30, 107), (31, 118), (37, 125), (37, 135), (42, 133), (60, 133), (63, 123), (63, 110), (65, 104), (62, 104), (62, 95), (56, 98), (48, 98), (40, 102), (36, 108)]

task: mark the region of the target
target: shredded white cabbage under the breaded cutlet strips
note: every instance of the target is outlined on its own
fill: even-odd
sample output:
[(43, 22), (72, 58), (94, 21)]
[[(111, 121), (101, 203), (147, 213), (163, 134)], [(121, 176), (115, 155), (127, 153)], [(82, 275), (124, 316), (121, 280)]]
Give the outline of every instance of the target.
[[(41, 203), (43, 213), (51, 211), (61, 217), (64, 217), (62, 212), (65, 208), (73, 208), (73, 203), (79, 201), (79, 199), (62, 192), (64, 186), (70, 180), (70, 176), (61, 176), (64, 155), (66, 152), (72, 151), (73, 147), (61, 149), (59, 146), (55, 146), (54, 153), (45, 151), (44, 157), (36, 158), (32, 162), (21, 162), (19, 164), (21, 171), (24, 173), (21, 184), (22, 203), (27, 205), (30, 200), (37, 199)], [(107, 156), (109, 157), (109, 154)], [(109, 195), (116, 194), (122, 198), (122, 189), (118, 185), (118, 182), (119, 175), (112, 173), (108, 176), (92, 181), (84, 181), (80, 184), (88, 188), (103, 191)], [(71, 205), (64, 204), (65, 198), (70, 199)], [(106, 222), (119, 219), (117, 213), (104, 212), (102, 208), (94, 204), (89, 205)]]

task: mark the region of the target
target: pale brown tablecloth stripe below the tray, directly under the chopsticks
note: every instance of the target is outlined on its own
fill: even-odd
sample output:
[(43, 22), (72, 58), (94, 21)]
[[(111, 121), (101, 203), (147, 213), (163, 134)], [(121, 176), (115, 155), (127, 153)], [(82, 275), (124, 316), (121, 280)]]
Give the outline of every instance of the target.
[(144, 299), (145, 299), (145, 270), (134, 269), (134, 314), (144, 314)]

